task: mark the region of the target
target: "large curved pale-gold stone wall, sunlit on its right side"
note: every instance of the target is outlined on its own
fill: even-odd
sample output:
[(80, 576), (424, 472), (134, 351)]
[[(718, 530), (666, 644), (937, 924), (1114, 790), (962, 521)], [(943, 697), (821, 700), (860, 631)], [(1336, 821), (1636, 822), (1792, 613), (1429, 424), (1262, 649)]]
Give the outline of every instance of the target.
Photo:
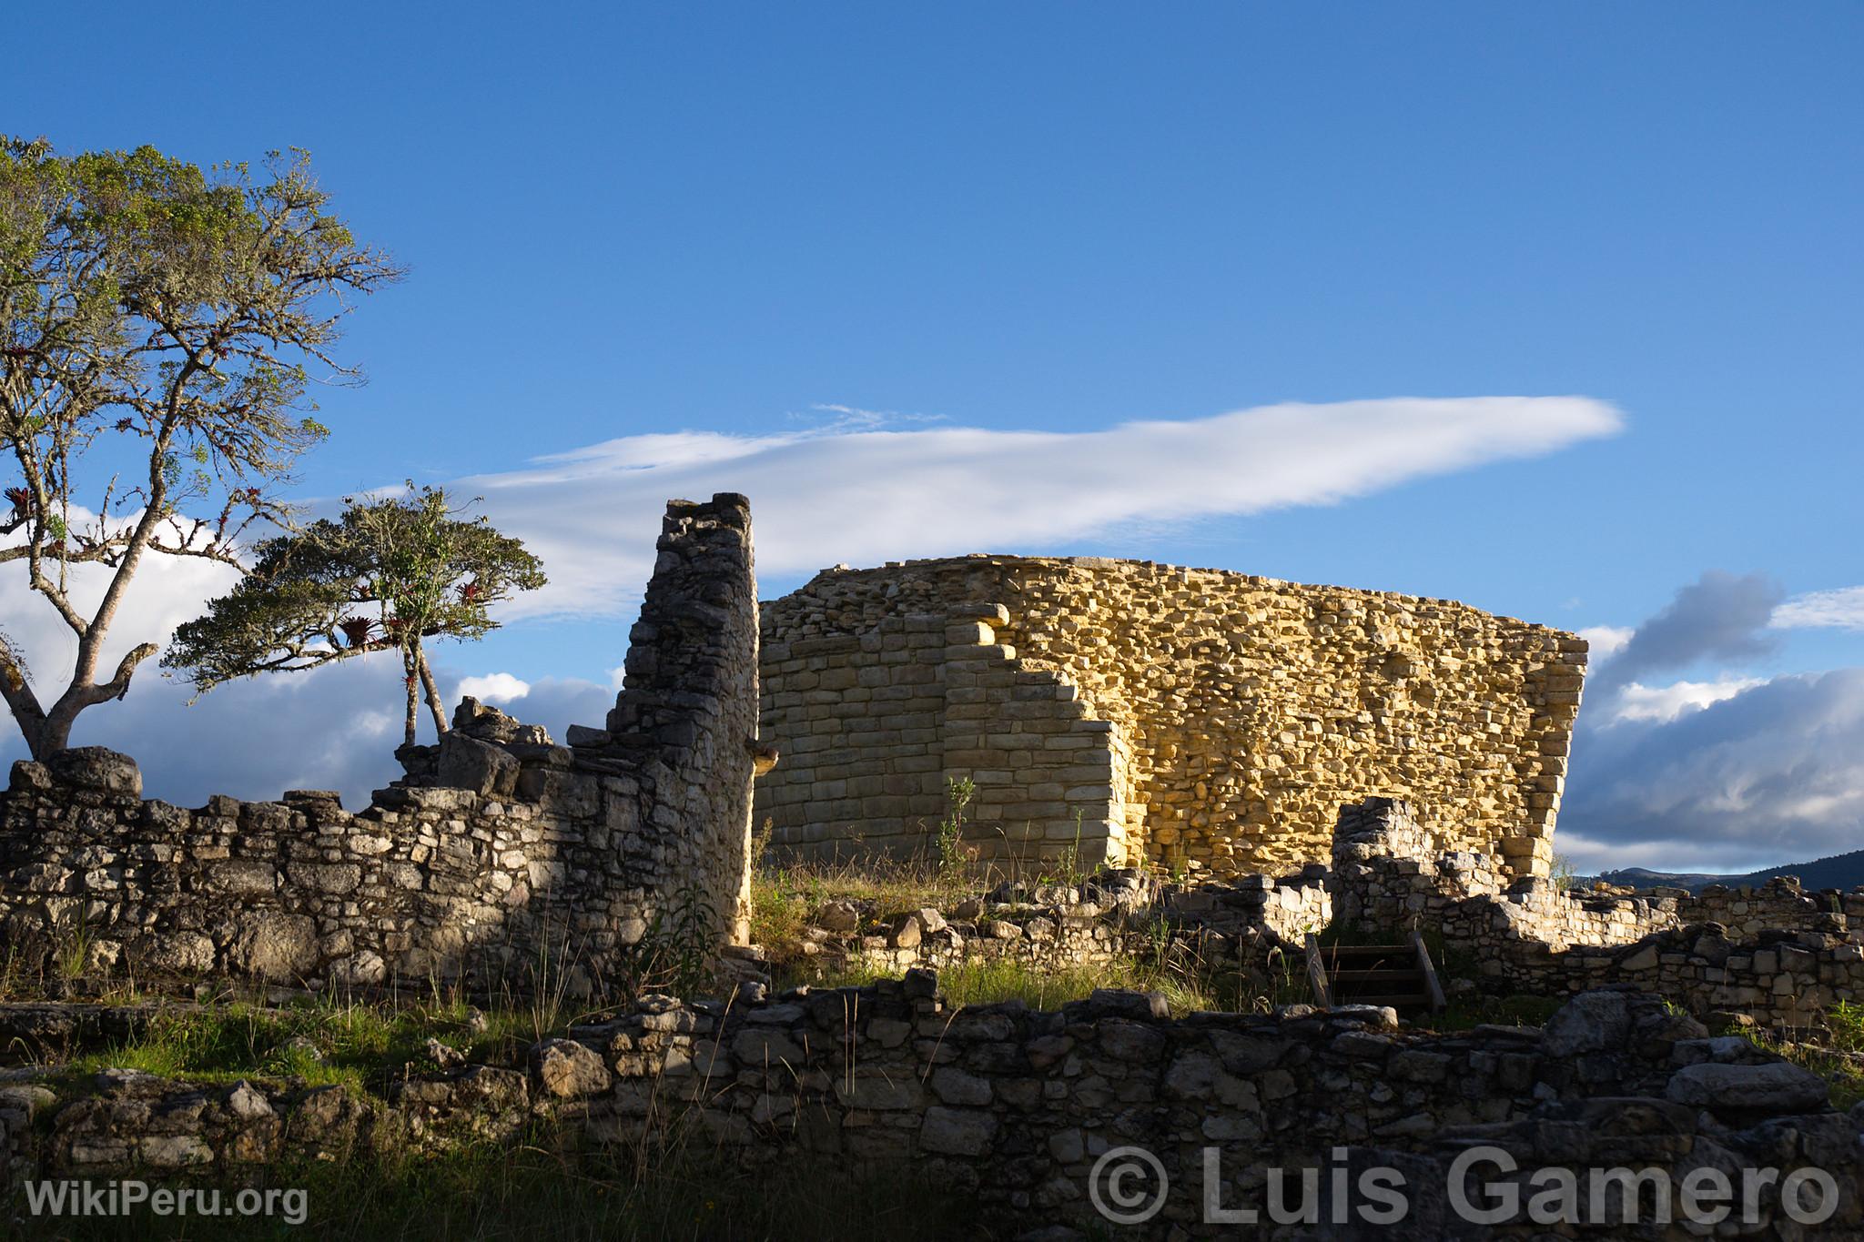
[(1448, 600), (1103, 559), (835, 568), (762, 631), (781, 845), (926, 851), (969, 778), (988, 860), (1215, 877), (1327, 860), (1374, 793), (1543, 875), (1586, 661)]

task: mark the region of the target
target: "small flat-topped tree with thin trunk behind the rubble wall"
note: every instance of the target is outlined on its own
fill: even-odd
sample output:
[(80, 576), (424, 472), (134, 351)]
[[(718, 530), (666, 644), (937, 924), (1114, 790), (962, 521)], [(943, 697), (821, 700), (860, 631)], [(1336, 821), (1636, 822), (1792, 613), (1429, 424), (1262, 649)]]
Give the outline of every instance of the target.
[(479, 639), (498, 629), (494, 603), (546, 581), (522, 542), (460, 512), (444, 490), (412, 482), (403, 495), (345, 499), (341, 518), (259, 544), (252, 572), (175, 629), (162, 665), (207, 693), (257, 672), (399, 652), (406, 741), (423, 691), (434, 728), (447, 732), (425, 639)]

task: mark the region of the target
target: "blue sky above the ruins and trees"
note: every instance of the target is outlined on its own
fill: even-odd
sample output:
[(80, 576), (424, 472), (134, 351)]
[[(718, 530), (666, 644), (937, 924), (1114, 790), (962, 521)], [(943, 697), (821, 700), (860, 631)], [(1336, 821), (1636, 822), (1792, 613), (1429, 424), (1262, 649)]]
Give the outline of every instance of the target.
[[(846, 492), (848, 525), (898, 529), (895, 555), (923, 555), (982, 547), (928, 546), (923, 508), (874, 520), (884, 493), (956, 514), (1016, 479), (962, 462), (928, 479), (908, 451), (848, 490), (874, 469), (876, 428), (1066, 438), (1279, 402), (1583, 395), (1622, 430), (1400, 471), (1338, 503), (1113, 505), (1072, 529), (1010, 521), (1001, 542), (949, 533), (1454, 596), (1569, 629), (1637, 628), (1711, 570), (1761, 575), (1748, 594), (1767, 600), (1864, 583), (1855, 6), (190, 13), (9, 15), (17, 47), (82, 52), (15, 58), (0, 128), (201, 162), (308, 147), (356, 231), (410, 266), (354, 317), (347, 356), (371, 382), (322, 398), (336, 436), (306, 497), (490, 479), (505, 520), (498, 480), (528, 460), (671, 434), (615, 469), (697, 451), (712, 466), (680, 479), (734, 486), (747, 452), (766, 495)], [(1062, 516), (1124, 486), (1081, 460), (1053, 454), (1079, 488), (1048, 480)], [(1031, 449), (1018, 477), (1046, 462)], [(574, 536), (626, 555), (554, 562), (559, 583), (632, 574), (652, 538), (649, 508), (604, 521), (600, 495), (563, 506), (587, 514)], [(529, 505), (509, 510), (520, 527), (550, 503)], [(820, 514), (783, 525), (783, 497), (766, 506), (766, 594), (807, 577), (811, 540), (841, 559)], [(600, 685), (637, 588), (557, 598), (445, 659)], [(1601, 782), (1652, 747), (1657, 767), (1612, 780), (1685, 780), (1704, 743), (1657, 743), (1700, 734), (1694, 717), (1735, 728), (1739, 698), (1799, 685), (1771, 680), (1864, 663), (1858, 628), (1760, 637), (1679, 648), (1638, 680), (1752, 682), (1739, 696), (1581, 739), (1562, 817), (1581, 853), (1745, 866), (1864, 845), (1864, 769), (1840, 758), (1812, 803), (1778, 786), (1758, 810), (1735, 799), (1713, 847), (1706, 803), (1583, 795), (1588, 750)], [(1610, 713), (1590, 696), (1588, 717)], [(106, 737), (91, 717), (80, 734)], [(1804, 752), (1780, 763), (1842, 752), (1849, 724), (1799, 719)]]

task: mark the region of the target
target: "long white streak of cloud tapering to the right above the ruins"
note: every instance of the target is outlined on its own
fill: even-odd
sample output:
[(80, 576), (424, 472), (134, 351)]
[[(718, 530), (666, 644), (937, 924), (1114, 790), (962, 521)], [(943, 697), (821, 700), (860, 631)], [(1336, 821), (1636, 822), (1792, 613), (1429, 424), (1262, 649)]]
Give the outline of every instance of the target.
[(966, 551), (1040, 551), (1141, 521), (1333, 505), (1400, 482), (1610, 436), (1584, 397), (1282, 404), (1090, 432), (867, 421), (772, 436), (626, 436), (459, 480), (544, 559), (513, 614), (624, 611), (667, 497), (751, 497), (757, 560), (800, 574)]

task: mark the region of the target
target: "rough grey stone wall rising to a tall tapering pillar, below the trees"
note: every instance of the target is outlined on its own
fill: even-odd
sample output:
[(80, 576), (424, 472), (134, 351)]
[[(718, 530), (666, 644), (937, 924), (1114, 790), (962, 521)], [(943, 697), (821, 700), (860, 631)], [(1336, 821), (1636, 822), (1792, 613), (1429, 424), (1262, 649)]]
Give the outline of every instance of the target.
[[(757, 763), (757, 594), (744, 497), (667, 506), (608, 728), (554, 745), (462, 704), (408, 776), (336, 795), (144, 801), (136, 765), (78, 749), (13, 765), (0, 937), (28, 963), (377, 985), (462, 978), (589, 994), (654, 920), (744, 920)], [(67, 961), (76, 955), (78, 961)]]

